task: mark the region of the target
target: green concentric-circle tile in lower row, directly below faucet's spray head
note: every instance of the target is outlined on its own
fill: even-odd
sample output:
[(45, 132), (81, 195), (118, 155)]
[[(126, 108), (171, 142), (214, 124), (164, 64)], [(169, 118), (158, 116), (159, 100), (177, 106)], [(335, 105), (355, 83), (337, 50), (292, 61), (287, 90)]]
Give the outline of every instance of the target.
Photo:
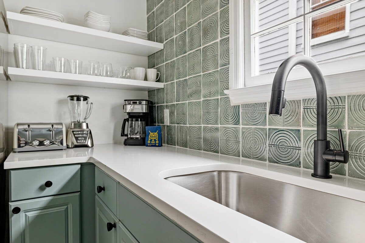
[(269, 128), (268, 161), (300, 168), (300, 129)]

